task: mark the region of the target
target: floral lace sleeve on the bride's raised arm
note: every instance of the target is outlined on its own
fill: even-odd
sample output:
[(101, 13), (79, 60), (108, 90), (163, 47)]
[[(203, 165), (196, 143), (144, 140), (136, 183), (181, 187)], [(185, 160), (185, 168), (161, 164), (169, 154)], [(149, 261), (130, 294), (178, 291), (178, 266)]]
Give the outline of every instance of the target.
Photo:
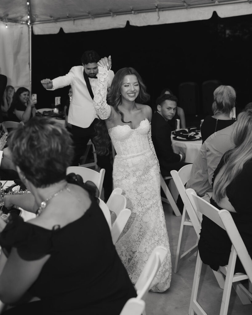
[(111, 114), (111, 107), (106, 103), (108, 70), (98, 66), (98, 80), (94, 96), (94, 107), (100, 119), (107, 119)]

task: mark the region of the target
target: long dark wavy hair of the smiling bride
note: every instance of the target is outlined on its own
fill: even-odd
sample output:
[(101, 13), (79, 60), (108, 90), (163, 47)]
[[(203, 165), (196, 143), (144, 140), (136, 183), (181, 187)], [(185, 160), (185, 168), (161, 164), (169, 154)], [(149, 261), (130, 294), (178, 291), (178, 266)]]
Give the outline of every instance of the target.
[[(118, 109), (118, 106), (122, 103), (120, 89), (126, 75), (135, 75), (137, 77), (139, 94), (135, 99), (136, 103), (145, 104), (149, 100), (150, 95), (146, 92), (146, 86), (139, 73), (134, 68), (122, 68), (116, 72), (111, 83), (111, 88), (107, 93), (107, 104), (113, 106), (115, 111), (121, 115), (121, 121), (123, 123), (130, 123), (124, 121), (123, 112)], [(95, 124), (95, 133), (96, 136), (93, 141), (96, 147), (96, 153), (100, 155), (108, 155), (110, 137), (104, 120), (99, 119), (99, 122)]]

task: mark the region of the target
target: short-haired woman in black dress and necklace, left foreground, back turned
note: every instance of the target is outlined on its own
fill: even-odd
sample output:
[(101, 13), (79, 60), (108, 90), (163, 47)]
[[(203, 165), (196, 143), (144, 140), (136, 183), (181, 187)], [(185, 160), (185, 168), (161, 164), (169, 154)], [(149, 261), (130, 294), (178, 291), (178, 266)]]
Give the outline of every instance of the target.
[[(66, 178), (73, 157), (65, 128), (32, 118), (13, 131), (14, 163), (30, 194), (5, 196), (36, 212), (23, 222), (0, 218), (0, 300), (19, 304), (6, 314), (120, 314), (136, 296), (94, 191), (79, 175)], [(26, 295), (40, 301), (20, 305)]]

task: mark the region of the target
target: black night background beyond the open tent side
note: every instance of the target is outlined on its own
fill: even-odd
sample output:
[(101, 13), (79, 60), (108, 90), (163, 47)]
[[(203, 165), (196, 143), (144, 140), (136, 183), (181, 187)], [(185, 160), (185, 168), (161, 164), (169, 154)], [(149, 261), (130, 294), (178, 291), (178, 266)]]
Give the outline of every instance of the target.
[(112, 70), (131, 66), (142, 76), (154, 109), (157, 96), (169, 87), (178, 96), (179, 84), (199, 85), (198, 113), (202, 113), (201, 84), (217, 79), (237, 91), (237, 106), (252, 101), (252, 15), (157, 26), (130, 26), (103, 31), (32, 35), (32, 93), (37, 108), (50, 107), (55, 96), (67, 99), (68, 88), (43, 89), (40, 80), (65, 75), (81, 65), (85, 50), (112, 56)]

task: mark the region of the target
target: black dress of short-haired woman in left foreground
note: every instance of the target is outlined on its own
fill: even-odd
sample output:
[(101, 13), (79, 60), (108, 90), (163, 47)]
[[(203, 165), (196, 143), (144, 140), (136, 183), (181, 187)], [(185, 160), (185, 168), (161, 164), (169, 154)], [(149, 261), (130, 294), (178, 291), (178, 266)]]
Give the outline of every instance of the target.
[(136, 296), (106, 219), (91, 198), (85, 214), (62, 228), (48, 230), (19, 217), (9, 221), (0, 238), (7, 255), (16, 247), (27, 261), (51, 256), (28, 291), (41, 301), (16, 306), (6, 315), (118, 315), (126, 301)]

